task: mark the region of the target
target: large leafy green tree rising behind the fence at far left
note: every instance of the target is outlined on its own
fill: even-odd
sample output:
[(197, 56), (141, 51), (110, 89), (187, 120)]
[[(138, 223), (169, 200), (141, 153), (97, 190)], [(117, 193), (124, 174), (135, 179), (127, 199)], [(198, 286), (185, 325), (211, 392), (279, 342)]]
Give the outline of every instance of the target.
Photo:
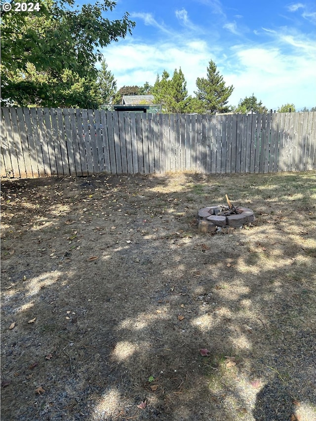
[(22, 105), (34, 95), (38, 106), (78, 106), (78, 101), (73, 105), (60, 102), (60, 91), (75, 95), (69, 86), (72, 80), (79, 83), (81, 94), (89, 93), (86, 108), (90, 91), (95, 90), (91, 83), (98, 75), (95, 64), (102, 59), (100, 48), (124, 38), (135, 23), (128, 13), (114, 21), (103, 17), (113, 10), (114, 1), (81, 8), (74, 0), (43, 0), (40, 4), (39, 12), (9, 11), (1, 16), (2, 100)]

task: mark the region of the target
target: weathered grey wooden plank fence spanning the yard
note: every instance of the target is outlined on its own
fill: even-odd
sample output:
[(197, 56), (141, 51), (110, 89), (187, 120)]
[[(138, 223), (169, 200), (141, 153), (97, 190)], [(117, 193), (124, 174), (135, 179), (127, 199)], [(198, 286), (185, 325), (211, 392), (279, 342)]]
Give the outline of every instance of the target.
[(316, 168), (316, 112), (178, 115), (1, 108), (1, 177)]

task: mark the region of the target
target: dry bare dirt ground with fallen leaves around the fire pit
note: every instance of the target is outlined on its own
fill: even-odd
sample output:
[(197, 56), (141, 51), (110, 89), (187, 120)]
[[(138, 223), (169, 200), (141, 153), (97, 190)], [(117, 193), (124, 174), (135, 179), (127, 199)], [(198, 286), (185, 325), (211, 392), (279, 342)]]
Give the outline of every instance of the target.
[[(225, 193), (256, 221), (197, 232)], [(316, 420), (315, 172), (3, 181), (1, 204), (1, 419)]]

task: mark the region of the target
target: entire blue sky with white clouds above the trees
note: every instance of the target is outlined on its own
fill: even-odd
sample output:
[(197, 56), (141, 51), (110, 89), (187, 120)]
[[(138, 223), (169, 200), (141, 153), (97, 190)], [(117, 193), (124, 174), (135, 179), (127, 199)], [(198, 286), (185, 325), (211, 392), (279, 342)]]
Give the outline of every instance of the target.
[(132, 36), (102, 50), (118, 87), (154, 84), (181, 67), (190, 94), (213, 60), (229, 103), (255, 94), (268, 109), (316, 106), (316, 3), (281, 0), (118, 0), (110, 20), (127, 11)]

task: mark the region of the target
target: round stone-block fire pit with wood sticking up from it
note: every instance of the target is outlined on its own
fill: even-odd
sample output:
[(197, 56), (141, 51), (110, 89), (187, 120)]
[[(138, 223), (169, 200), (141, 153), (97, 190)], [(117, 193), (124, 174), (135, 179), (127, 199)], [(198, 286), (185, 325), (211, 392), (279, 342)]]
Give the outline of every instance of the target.
[(198, 211), (198, 230), (201, 232), (215, 232), (217, 227), (241, 227), (243, 224), (255, 220), (251, 209), (234, 206), (227, 194), (228, 206), (207, 206)]

